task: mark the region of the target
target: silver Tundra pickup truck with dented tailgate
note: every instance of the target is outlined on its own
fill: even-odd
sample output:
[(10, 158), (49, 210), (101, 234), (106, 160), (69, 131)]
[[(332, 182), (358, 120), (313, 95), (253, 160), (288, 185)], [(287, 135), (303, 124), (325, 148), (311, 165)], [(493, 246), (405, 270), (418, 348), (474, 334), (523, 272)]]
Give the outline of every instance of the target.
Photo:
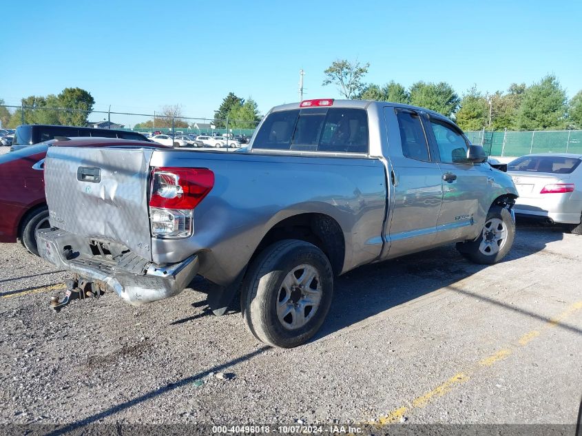
[(67, 145), (45, 160), (52, 228), (37, 239), (74, 273), (68, 295), (143, 304), (199, 274), (217, 315), (240, 290), (248, 329), (273, 346), (318, 331), (335, 276), (453, 242), (492, 264), (515, 236), (511, 178), (420, 107), (282, 105), (230, 153)]

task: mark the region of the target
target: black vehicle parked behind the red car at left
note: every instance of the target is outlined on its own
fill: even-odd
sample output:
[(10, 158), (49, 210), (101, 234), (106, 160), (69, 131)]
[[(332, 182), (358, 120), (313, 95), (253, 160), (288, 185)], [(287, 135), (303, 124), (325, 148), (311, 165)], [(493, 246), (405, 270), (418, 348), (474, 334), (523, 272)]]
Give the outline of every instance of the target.
[(125, 130), (96, 129), (94, 127), (75, 127), (70, 125), (23, 124), (16, 128), (10, 150), (14, 152), (29, 145), (43, 143), (57, 136), (63, 138), (83, 136), (148, 141), (145, 136), (138, 132), (127, 132)]

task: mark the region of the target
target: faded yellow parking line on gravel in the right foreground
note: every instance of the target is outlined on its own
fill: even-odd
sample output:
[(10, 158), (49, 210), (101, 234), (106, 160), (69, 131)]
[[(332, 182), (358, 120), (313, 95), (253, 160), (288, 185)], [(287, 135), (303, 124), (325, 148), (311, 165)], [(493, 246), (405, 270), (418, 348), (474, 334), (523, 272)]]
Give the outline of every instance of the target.
[[(557, 326), (561, 321), (565, 320), (566, 318), (569, 318), (580, 309), (582, 309), (582, 301), (570, 304), (568, 309), (557, 315), (557, 317), (552, 318), (548, 322), (546, 322), (544, 329)], [(526, 346), (534, 338), (537, 338), (540, 334), (541, 332), (537, 330), (529, 331), (528, 333), (522, 335), (521, 338), (519, 338), (518, 343), (520, 346)], [(470, 377), (472, 377), (473, 375), (475, 375), (475, 373), (477, 373), (477, 371), (479, 371), (479, 368), (482, 368), (483, 366), (492, 366), (497, 362), (501, 362), (501, 360), (506, 359), (506, 357), (508, 357), (511, 353), (512, 353), (511, 348), (501, 349), (497, 351), (495, 354), (492, 354), (489, 357), (480, 360), (478, 364), (472, 365), (472, 367), (469, 368), (467, 371), (457, 373), (453, 377), (450, 377), (450, 379), (446, 380), (446, 382), (444, 382), (443, 384), (440, 384), (431, 391), (428, 391), (427, 393), (424, 393), (423, 395), (416, 397), (410, 402), (410, 406), (401, 406), (399, 408), (395, 408), (387, 415), (384, 415), (380, 417), (380, 419), (377, 419), (373, 422), (369, 422), (368, 424), (384, 425), (399, 422), (407, 412), (413, 411), (413, 409), (415, 408), (422, 408), (426, 406), (426, 404), (428, 404), (431, 400), (437, 397), (442, 397), (446, 393), (452, 391), (453, 388), (455, 388), (458, 384), (467, 382), (470, 379)]]

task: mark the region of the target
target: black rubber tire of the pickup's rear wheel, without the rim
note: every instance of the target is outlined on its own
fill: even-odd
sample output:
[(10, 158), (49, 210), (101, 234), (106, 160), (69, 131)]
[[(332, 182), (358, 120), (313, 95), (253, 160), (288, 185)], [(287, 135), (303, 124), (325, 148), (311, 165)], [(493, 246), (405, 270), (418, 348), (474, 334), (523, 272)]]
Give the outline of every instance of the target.
[[(293, 328), (291, 324), (280, 320), (277, 307), (284, 291), (283, 281), (293, 269), (304, 265), (318, 273), (313, 280), (315, 286), (320, 287), (320, 300), (313, 313), (313, 308), (307, 314), (307, 309), (300, 309), (305, 324)], [(311, 287), (311, 284), (308, 286)], [(303, 294), (302, 291), (295, 292)], [(317, 333), (329, 312), (332, 296), (333, 271), (329, 259), (309, 242), (288, 239), (267, 247), (253, 260), (242, 283), (240, 309), (247, 328), (258, 340), (271, 346), (293, 348), (304, 344)], [(288, 300), (288, 306), (292, 307), (295, 303), (291, 293)], [(295, 316), (293, 314), (293, 320)]]

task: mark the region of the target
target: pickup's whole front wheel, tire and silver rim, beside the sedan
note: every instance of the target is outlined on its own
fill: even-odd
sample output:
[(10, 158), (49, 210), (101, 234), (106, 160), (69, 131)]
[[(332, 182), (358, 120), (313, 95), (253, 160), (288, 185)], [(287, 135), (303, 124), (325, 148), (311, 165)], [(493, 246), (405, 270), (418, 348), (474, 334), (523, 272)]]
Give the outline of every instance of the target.
[(462, 256), (478, 264), (494, 264), (503, 259), (515, 239), (515, 222), (506, 207), (492, 206), (477, 240), (457, 242)]

